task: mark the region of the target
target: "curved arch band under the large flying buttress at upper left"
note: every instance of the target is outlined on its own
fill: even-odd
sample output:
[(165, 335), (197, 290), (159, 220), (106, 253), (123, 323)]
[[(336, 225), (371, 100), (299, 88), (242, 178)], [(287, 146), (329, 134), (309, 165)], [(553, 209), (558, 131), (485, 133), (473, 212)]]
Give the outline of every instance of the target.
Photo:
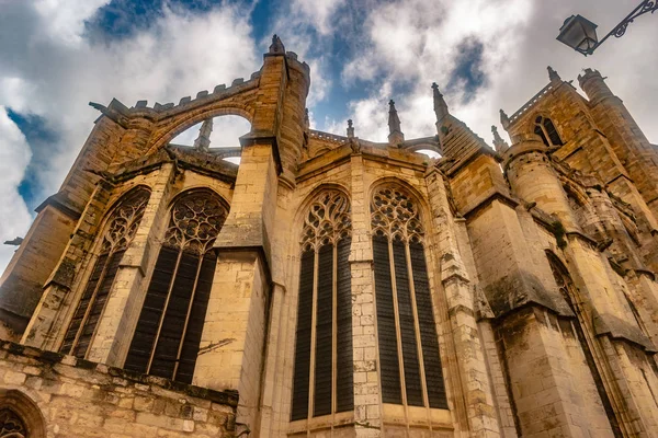
[(204, 108), (200, 113), (190, 111), (190, 114), (183, 116), (181, 119), (175, 119), (175, 116), (173, 116), (173, 120), (163, 120), (161, 122), (162, 126), (156, 127), (156, 134), (154, 134), (155, 138), (151, 138), (151, 146), (148, 149), (147, 154), (167, 146), (175, 136), (184, 132), (197, 123), (213, 117), (239, 116), (251, 124), (253, 123), (253, 112), (251, 105), (237, 103), (224, 104), (224, 102), (219, 102), (219, 105)]

